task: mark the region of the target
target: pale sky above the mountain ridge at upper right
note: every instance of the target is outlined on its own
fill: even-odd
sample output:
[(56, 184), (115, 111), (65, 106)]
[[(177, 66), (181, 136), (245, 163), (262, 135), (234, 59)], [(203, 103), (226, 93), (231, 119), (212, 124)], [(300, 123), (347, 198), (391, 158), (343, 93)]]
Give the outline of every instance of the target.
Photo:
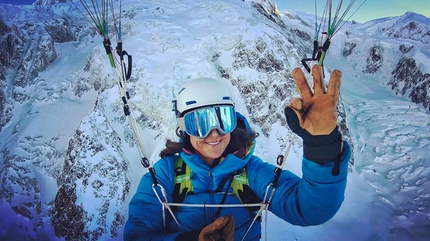
[[(299, 10), (312, 14), (315, 13), (315, 1), (313, 0), (272, 0), (272, 2), (276, 2), (279, 10)], [(325, 1), (318, 0), (318, 2), (320, 2), (320, 4), (317, 5), (318, 13), (321, 15), (324, 9)], [(338, 2), (339, 0), (334, 0), (333, 5), (337, 6)], [(343, 1), (343, 5), (345, 6), (350, 2), (350, 0)], [(361, 5), (361, 3), (363, 3), (363, 0), (355, 1), (350, 13), (353, 13)], [(365, 1), (363, 6), (354, 14), (354, 17), (352, 17), (351, 20), (364, 23), (377, 18), (400, 16), (406, 11), (419, 13), (430, 18), (430, 1), (369, 0)]]

